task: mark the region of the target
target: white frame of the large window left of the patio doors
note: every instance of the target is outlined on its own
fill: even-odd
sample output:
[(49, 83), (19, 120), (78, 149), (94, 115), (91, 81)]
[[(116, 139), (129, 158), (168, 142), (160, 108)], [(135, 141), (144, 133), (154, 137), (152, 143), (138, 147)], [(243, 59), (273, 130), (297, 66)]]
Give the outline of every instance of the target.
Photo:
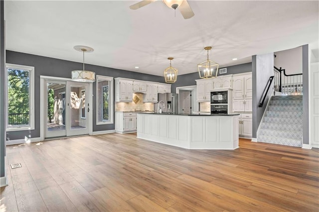
[[(20, 69), (29, 71), (29, 125), (27, 126), (8, 126), (8, 69)], [(5, 64), (5, 130), (22, 131), (34, 130), (34, 66), (25, 66), (17, 64)]]

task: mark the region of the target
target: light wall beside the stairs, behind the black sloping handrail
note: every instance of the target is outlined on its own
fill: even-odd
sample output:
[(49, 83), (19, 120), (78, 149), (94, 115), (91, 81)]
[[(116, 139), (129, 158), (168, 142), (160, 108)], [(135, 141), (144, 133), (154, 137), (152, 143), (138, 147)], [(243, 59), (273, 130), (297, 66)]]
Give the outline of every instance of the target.
[[(259, 101), (263, 96), (264, 89), (269, 77), (274, 76), (274, 54), (252, 56), (252, 78), (253, 78), (253, 138), (257, 138), (257, 130), (263, 117), (272, 90), (267, 94), (263, 107), (259, 107)], [(274, 82), (273, 82), (274, 83)], [(273, 87), (270, 87), (272, 89)]]

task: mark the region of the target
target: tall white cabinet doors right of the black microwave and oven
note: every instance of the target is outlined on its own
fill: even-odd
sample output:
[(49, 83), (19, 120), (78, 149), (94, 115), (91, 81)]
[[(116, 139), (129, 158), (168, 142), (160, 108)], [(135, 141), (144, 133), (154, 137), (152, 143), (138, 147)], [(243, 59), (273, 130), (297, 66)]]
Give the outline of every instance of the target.
[(252, 111), (252, 75), (233, 77), (233, 111)]

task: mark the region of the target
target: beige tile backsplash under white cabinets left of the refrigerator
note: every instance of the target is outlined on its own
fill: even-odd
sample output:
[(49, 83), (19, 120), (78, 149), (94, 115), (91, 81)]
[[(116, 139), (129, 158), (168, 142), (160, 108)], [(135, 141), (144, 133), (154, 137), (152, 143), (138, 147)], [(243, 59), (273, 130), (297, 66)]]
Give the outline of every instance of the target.
[(134, 93), (132, 103), (115, 103), (115, 111), (154, 110), (154, 103), (143, 103), (143, 94)]

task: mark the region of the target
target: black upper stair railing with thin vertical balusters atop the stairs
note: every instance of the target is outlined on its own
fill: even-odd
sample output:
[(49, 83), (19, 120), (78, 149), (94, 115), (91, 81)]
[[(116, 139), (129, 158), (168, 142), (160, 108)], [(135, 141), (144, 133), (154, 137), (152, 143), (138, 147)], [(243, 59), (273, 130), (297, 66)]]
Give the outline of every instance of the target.
[(303, 95), (303, 74), (286, 74), (286, 70), (274, 66), (275, 91), (287, 95)]

